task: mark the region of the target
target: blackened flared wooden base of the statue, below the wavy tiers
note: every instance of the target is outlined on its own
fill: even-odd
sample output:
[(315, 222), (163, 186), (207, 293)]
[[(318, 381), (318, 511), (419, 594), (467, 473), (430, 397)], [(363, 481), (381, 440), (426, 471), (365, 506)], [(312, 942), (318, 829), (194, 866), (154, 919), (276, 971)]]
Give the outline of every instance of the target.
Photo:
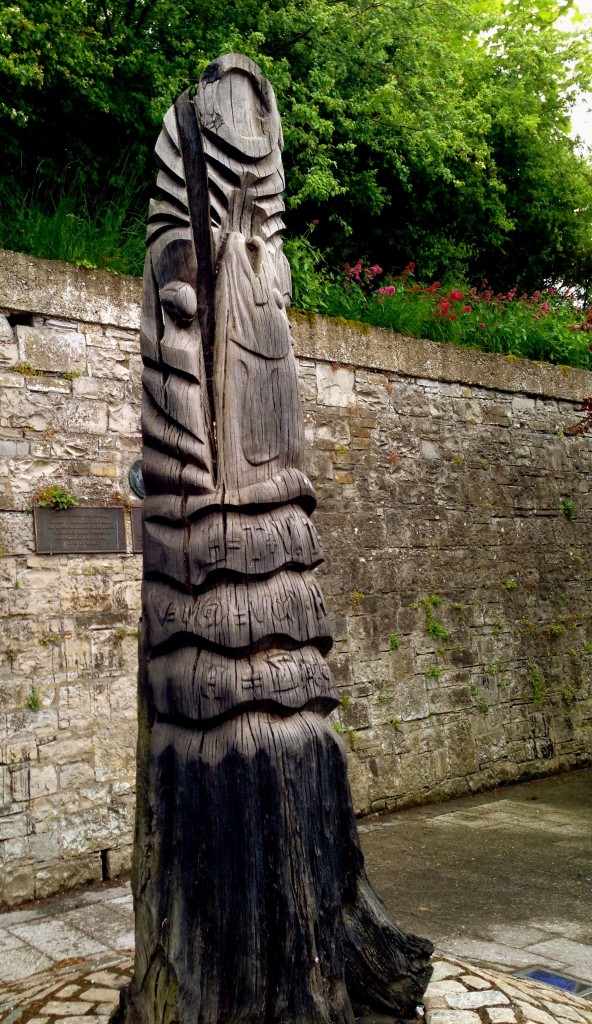
[(352, 1024), (352, 1001), (415, 1016), (432, 946), (366, 878), (342, 743), (321, 715), (157, 722), (146, 764), (135, 974), (114, 1021)]

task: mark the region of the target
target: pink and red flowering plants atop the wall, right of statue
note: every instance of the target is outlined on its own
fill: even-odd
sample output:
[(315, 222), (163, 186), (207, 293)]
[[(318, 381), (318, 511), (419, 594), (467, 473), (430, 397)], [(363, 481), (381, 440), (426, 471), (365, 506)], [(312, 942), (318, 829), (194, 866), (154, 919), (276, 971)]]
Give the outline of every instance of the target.
[[(316, 294), (322, 292), (323, 300), (304, 308), (412, 337), (592, 370), (592, 307), (582, 310), (569, 293), (553, 287), (532, 294), (517, 288), (496, 293), (487, 280), (478, 288), (439, 281), (425, 285), (415, 280), (415, 263), (396, 276), (382, 274), (378, 264), (363, 260), (346, 263), (339, 276), (321, 267), (324, 286)], [(294, 279), (298, 307), (305, 290), (297, 271)]]

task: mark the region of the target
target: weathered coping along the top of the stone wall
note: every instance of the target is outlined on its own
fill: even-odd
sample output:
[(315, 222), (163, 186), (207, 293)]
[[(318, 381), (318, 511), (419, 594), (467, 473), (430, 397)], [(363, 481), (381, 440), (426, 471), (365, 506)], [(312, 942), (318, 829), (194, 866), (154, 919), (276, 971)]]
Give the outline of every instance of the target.
[[(7, 312), (138, 330), (141, 287), (140, 278), (0, 249), (0, 309)], [(368, 325), (349, 327), (318, 314), (295, 312), (292, 330), (299, 358), (567, 401), (592, 394), (587, 370), (408, 338)]]

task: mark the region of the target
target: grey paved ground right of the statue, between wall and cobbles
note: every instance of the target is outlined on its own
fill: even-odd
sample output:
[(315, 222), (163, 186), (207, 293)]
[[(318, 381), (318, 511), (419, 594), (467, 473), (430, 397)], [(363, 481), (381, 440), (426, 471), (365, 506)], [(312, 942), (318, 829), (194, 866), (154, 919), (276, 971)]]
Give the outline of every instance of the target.
[(592, 984), (592, 769), (360, 830), (369, 874), (407, 929), (455, 956)]

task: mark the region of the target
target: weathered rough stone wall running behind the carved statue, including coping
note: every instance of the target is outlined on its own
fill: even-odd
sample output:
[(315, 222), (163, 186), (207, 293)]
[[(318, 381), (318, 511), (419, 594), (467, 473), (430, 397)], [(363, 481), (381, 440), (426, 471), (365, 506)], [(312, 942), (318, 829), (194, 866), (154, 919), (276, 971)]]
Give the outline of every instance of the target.
[[(140, 283), (0, 252), (0, 902), (129, 864), (140, 556), (32, 507), (137, 503)], [(589, 763), (592, 375), (294, 316), (361, 813)], [(32, 371), (37, 371), (33, 374)]]

